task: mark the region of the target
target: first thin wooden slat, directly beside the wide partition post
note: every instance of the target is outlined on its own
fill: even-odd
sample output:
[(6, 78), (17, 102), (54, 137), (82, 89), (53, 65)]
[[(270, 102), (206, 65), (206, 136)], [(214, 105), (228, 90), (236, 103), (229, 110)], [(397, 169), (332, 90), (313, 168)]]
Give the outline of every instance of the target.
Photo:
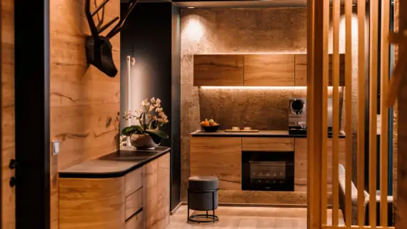
[[(329, 1), (323, 1), (323, 34), (329, 33)], [(328, 205), (327, 198), (327, 177), (328, 177), (328, 36), (323, 36), (322, 42), (322, 151), (321, 151), (321, 222), (326, 224), (326, 211)]]

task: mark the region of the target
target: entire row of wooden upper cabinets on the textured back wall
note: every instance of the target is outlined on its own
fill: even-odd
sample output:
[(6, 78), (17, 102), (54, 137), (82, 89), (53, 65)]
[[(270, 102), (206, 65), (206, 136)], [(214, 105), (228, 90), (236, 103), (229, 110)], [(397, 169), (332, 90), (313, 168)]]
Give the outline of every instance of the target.
[[(345, 54), (339, 85), (345, 86)], [(329, 55), (329, 86), (333, 58)], [(307, 86), (306, 54), (194, 55), (194, 86)]]

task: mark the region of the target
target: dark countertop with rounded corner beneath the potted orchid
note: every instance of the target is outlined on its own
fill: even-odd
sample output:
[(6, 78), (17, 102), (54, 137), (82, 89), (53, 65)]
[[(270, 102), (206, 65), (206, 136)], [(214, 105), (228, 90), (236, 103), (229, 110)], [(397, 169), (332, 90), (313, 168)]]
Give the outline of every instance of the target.
[(171, 148), (164, 146), (156, 147), (154, 150), (136, 150), (131, 146), (124, 146), (120, 148), (119, 152), (59, 171), (59, 177), (117, 178), (169, 153), (170, 150)]

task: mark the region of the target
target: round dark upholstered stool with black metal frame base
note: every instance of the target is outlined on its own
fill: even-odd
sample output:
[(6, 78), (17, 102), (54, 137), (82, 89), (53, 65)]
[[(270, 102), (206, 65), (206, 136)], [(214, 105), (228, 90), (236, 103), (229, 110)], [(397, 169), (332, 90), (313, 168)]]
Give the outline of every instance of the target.
[[(218, 208), (218, 178), (193, 176), (188, 180), (188, 221), (213, 223), (219, 220), (215, 215)], [(206, 211), (205, 214), (189, 215), (189, 209)], [(209, 215), (208, 211), (213, 214)]]

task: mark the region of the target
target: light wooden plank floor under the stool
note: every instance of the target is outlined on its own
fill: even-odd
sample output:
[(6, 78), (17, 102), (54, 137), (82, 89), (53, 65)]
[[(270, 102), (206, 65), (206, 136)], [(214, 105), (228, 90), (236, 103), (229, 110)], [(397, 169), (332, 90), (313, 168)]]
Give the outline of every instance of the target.
[[(186, 223), (186, 206), (182, 206), (171, 216), (168, 229), (306, 229), (306, 212), (306, 208), (219, 207), (217, 223), (197, 224)], [(330, 215), (331, 210), (328, 210), (328, 224), (331, 224)], [(341, 212), (339, 222), (344, 224)]]

